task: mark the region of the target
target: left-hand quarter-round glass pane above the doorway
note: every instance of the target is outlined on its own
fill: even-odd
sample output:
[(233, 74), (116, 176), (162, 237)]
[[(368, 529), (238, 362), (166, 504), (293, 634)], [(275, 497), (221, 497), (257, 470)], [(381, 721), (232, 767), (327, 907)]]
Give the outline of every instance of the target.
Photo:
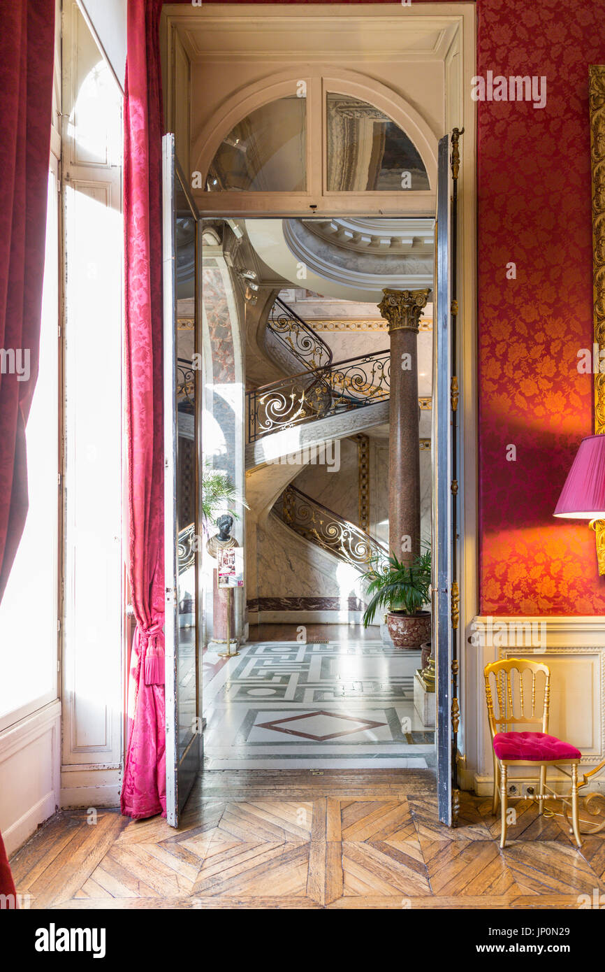
[(208, 172), (208, 191), (306, 190), (306, 105), (292, 94), (256, 108), (222, 140)]

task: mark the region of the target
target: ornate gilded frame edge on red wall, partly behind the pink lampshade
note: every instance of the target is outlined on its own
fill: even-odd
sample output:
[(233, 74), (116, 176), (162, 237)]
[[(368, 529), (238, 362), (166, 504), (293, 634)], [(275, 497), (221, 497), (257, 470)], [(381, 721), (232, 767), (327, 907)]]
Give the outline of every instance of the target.
[[(594, 432), (605, 433), (605, 64), (589, 68), (590, 168), (592, 172), (592, 299), (594, 343), (599, 367), (594, 374)], [(602, 356), (602, 357), (601, 357)], [(605, 520), (591, 523), (598, 570), (605, 574)]]

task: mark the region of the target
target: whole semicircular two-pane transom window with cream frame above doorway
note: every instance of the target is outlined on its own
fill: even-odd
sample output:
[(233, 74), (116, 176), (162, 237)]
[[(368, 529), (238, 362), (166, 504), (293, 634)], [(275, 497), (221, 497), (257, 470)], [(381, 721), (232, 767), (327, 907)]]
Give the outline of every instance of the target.
[(432, 213), (431, 133), (385, 91), (321, 77), (241, 98), (202, 148), (200, 208)]

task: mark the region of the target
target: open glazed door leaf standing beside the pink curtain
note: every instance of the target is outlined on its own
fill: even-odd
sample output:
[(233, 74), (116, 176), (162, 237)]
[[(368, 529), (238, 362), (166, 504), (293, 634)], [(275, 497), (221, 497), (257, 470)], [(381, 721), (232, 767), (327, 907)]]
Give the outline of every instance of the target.
[(164, 283), (164, 563), (166, 816), (173, 827), (201, 767), (199, 659), (199, 214), (162, 142)]

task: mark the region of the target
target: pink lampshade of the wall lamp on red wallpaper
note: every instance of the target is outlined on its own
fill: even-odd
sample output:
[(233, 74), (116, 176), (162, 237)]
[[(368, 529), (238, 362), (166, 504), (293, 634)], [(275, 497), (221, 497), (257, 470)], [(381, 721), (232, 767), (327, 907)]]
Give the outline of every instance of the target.
[(556, 503), (555, 516), (605, 519), (605, 435), (582, 439)]

